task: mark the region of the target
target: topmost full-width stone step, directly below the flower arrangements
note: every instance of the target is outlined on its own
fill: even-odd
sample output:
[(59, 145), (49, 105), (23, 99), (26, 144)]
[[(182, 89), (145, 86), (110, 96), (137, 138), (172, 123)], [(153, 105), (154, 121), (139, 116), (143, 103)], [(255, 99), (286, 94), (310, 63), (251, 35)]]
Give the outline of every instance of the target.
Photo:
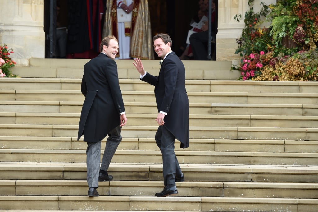
[[(80, 78), (3, 78), (0, 89), (12, 90), (80, 90)], [(154, 86), (140, 79), (119, 79), (121, 90), (153, 91)], [(304, 81), (185, 81), (188, 92), (317, 93), (318, 82)]]

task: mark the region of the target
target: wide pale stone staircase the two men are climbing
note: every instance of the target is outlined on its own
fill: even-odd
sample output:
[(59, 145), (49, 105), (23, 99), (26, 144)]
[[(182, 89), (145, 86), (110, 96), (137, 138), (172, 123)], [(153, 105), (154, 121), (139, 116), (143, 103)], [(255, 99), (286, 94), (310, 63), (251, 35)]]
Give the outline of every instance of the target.
[[(236, 81), (227, 61), (184, 61), (190, 147), (176, 141), (176, 155), (186, 181), (158, 198), (153, 86), (132, 60), (116, 60), (128, 124), (114, 180), (87, 197), (86, 143), (76, 138), (86, 62), (31, 59), (12, 70), (21, 78), (0, 79), (1, 211), (318, 211), (318, 82)], [(158, 61), (144, 66), (159, 71)]]

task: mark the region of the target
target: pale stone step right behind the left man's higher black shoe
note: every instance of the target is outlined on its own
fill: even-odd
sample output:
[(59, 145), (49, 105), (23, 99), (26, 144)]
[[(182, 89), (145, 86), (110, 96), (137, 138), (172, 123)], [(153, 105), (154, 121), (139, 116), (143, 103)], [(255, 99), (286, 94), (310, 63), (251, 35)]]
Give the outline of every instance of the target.
[[(317, 183), (318, 166), (180, 164), (186, 182)], [(86, 180), (86, 163), (2, 162), (0, 180)], [(114, 180), (162, 180), (162, 164), (111, 163)]]

